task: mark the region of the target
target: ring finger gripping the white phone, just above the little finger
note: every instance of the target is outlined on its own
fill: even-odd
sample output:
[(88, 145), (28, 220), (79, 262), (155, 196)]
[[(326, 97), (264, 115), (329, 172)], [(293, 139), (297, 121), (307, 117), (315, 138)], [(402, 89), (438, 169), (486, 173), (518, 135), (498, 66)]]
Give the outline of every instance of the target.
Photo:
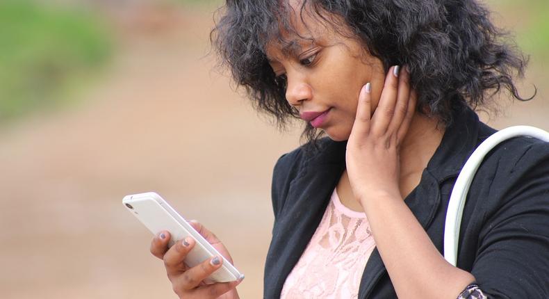
[(189, 268), (172, 281), (174, 288), (178, 289), (174, 291), (177, 293), (177, 291), (195, 289), (203, 280), (210, 276), (211, 273), (214, 273), (215, 270), (221, 268), (222, 264), (222, 257), (215, 256), (211, 259), (206, 259), (206, 261), (202, 261), (202, 263), (197, 266)]

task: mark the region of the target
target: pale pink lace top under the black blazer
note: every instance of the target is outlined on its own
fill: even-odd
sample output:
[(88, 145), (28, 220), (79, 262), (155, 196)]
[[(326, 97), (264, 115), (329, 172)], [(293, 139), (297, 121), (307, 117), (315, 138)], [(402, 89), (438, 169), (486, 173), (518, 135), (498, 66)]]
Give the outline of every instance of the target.
[(374, 248), (366, 214), (341, 204), (334, 189), (320, 225), (284, 282), (280, 298), (357, 298)]

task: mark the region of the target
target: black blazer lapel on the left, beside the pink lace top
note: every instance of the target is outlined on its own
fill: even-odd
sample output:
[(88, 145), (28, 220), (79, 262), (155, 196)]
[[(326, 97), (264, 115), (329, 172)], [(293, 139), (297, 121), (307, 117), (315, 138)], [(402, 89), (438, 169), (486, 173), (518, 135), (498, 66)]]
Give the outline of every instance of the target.
[(299, 261), (324, 216), (345, 169), (345, 143), (327, 142), (305, 161), (290, 183), (265, 262), (265, 298), (280, 298), (286, 277)]

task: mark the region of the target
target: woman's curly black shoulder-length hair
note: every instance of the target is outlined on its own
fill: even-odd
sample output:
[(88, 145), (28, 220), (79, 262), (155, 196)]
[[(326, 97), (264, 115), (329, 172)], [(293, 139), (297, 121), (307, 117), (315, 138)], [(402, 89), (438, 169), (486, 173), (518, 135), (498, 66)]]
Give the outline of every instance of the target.
[[(350, 33), (385, 70), (407, 65), (418, 112), (428, 111), (445, 125), (452, 122), (452, 111), (486, 106), (501, 88), (527, 100), (514, 83), (527, 59), (476, 0), (302, 0), (299, 9), (302, 19), (306, 13), (336, 30), (345, 26), (338, 33)], [(289, 21), (297, 11), (288, 0), (227, 0), (219, 12), (211, 42), (220, 63), (254, 107), (284, 127), (299, 115), (286, 101), (286, 82), (274, 75), (265, 47), (290, 42), (284, 33), (299, 36)], [(304, 130), (307, 140), (320, 135), (310, 124)]]

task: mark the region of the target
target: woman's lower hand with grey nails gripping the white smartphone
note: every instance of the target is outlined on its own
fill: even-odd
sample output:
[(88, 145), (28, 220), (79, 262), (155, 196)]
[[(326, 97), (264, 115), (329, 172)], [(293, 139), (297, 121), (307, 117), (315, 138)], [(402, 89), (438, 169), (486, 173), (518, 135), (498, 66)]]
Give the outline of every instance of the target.
[[(196, 221), (189, 222), (197, 232), (199, 232), (206, 241), (210, 242), (213, 247), (218, 250), (225, 259), (233, 263), (231, 255), (227, 248), (219, 241), (219, 239), (206, 227)], [(236, 282), (223, 282), (215, 284), (206, 284), (204, 279), (211, 273), (218, 270), (223, 264), (221, 257), (213, 257), (203, 261), (192, 268), (188, 268), (183, 264), (183, 259), (190, 250), (194, 247), (196, 241), (191, 237), (177, 241), (170, 249), (167, 248), (167, 243), (170, 241), (169, 232), (160, 232), (151, 241), (151, 253), (163, 259), (166, 268), (167, 277), (172, 282), (172, 287), (177, 296), (181, 299), (206, 299), (206, 298), (223, 298), (234, 299), (239, 298), (235, 287), (240, 284), (241, 280)]]

